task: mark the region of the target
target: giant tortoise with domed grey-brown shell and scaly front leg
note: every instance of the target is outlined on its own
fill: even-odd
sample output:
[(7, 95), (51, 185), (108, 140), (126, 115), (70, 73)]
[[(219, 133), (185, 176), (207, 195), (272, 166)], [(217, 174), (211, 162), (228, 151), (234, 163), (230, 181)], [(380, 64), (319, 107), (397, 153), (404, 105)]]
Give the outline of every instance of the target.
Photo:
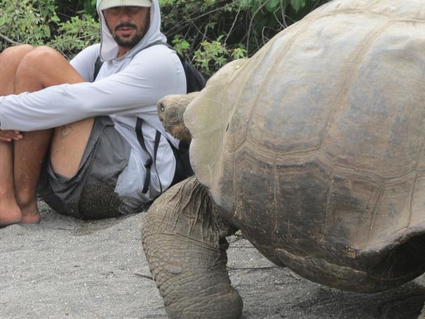
[(183, 118), (196, 176), (155, 201), (142, 233), (171, 318), (240, 315), (225, 253), (237, 229), (338, 289), (425, 272), (424, 61), (425, 1), (334, 0), (200, 93), (159, 104), (181, 136), (194, 98)]

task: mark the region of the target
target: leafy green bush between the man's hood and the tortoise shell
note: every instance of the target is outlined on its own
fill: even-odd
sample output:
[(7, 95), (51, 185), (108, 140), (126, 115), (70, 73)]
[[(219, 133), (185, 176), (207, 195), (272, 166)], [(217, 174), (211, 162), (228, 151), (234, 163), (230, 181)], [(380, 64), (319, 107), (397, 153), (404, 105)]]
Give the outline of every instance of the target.
[[(328, 0), (159, 0), (162, 29), (207, 76), (253, 55), (280, 30)], [(183, 47), (181, 47), (183, 45)]]

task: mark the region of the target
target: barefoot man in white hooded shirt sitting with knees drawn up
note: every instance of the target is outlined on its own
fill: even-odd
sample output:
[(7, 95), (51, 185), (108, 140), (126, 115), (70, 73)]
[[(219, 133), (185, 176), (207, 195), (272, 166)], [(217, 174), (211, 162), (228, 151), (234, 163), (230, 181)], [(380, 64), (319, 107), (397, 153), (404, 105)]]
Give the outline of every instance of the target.
[(70, 63), (30, 45), (0, 56), (1, 226), (39, 222), (37, 188), (60, 213), (103, 218), (139, 211), (174, 179), (170, 143), (179, 141), (156, 103), (185, 94), (186, 77), (176, 52), (151, 45), (166, 42), (158, 1), (98, 0), (97, 8), (101, 44)]

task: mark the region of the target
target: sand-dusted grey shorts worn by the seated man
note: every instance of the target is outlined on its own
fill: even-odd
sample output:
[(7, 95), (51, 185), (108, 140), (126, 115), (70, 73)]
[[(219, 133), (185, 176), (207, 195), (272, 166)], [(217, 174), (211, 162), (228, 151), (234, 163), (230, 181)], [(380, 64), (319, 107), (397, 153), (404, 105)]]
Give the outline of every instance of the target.
[(114, 190), (118, 175), (127, 167), (130, 150), (111, 118), (100, 116), (94, 121), (77, 174), (71, 179), (55, 174), (47, 157), (38, 196), (64, 215), (81, 219), (120, 216), (126, 210)]

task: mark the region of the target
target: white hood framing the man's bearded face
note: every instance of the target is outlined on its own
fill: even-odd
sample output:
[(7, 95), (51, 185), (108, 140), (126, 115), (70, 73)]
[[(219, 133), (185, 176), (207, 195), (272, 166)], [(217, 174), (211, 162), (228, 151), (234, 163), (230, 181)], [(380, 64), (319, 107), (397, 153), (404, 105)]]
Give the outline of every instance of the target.
[[(96, 8), (99, 8), (102, 0), (97, 0)], [(103, 61), (111, 61), (118, 56), (118, 45), (115, 43), (111, 32), (109, 32), (108, 26), (106, 26), (105, 18), (103, 13), (98, 10), (99, 17), (101, 18), (101, 59)], [(150, 7), (150, 25), (145, 37), (140, 40), (135, 47), (133, 47), (126, 55), (120, 57), (133, 57), (137, 52), (142, 50), (150, 43), (154, 43), (158, 40), (162, 40), (166, 43), (166, 37), (160, 31), (161, 27), (161, 15), (159, 14), (159, 3), (158, 0), (152, 0), (152, 6)], [(119, 59), (119, 60), (120, 60)]]

